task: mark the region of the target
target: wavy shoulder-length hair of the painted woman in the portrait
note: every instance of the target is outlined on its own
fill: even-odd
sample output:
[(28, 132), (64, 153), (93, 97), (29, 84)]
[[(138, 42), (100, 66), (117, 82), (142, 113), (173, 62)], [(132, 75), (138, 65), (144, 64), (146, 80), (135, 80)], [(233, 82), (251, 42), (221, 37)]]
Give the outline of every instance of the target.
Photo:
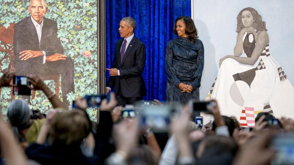
[(267, 31), (266, 27), (265, 27), (265, 21), (262, 21), (262, 16), (260, 16), (260, 14), (258, 14), (258, 12), (251, 8), (251, 7), (246, 7), (244, 9), (242, 9), (238, 16), (237, 16), (237, 28), (236, 28), (236, 32), (239, 33), (245, 26), (242, 23), (242, 13), (243, 11), (250, 11), (252, 16), (253, 16), (253, 24), (252, 26), (257, 30), (257, 31)]

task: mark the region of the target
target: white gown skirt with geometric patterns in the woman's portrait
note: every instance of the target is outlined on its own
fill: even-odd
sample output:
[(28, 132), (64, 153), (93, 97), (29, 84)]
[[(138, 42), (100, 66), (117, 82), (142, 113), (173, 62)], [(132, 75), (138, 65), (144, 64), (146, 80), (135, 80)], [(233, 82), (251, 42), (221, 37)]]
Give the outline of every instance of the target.
[[(235, 116), (242, 127), (254, 127), (259, 112), (294, 119), (294, 88), (270, 55), (269, 44), (254, 65), (225, 59), (206, 97), (209, 99), (217, 100), (221, 115)], [(213, 120), (211, 115), (201, 115), (204, 123)]]

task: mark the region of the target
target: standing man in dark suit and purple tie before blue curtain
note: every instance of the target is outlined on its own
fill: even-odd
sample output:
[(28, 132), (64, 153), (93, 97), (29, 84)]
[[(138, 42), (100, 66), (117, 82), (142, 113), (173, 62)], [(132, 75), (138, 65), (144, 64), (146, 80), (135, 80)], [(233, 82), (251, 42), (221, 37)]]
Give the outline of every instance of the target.
[(146, 86), (142, 77), (145, 67), (145, 45), (134, 35), (136, 21), (125, 17), (118, 29), (122, 39), (116, 41), (114, 58), (106, 93), (115, 87), (118, 105), (133, 104), (146, 95)]

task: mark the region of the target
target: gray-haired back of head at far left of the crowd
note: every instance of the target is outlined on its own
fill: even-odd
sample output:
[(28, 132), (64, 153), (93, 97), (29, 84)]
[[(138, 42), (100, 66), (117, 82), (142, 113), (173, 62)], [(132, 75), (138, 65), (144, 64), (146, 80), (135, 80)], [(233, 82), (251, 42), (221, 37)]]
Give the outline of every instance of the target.
[(7, 111), (7, 118), (13, 128), (13, 132), (19, 141), (24, 141), (24, 137), (19, 131), (31, 126), (31, 114), (29, 105), (25, 100), (12, 100)]

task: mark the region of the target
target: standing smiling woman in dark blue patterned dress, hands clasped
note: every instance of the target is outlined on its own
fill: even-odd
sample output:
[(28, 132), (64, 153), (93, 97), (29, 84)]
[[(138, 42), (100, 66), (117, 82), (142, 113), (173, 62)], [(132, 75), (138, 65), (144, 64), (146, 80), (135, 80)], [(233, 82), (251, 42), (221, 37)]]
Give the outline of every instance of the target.
[(191, 99), (199, 100), (204, 47), (193, 20), (188, 16), (176, 19), (173, 32), (178, 38), (169, 41), (166, 48), (166, 97), (170, 103), (186, 104)]

